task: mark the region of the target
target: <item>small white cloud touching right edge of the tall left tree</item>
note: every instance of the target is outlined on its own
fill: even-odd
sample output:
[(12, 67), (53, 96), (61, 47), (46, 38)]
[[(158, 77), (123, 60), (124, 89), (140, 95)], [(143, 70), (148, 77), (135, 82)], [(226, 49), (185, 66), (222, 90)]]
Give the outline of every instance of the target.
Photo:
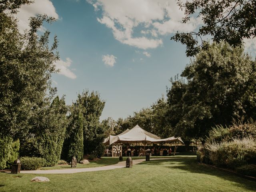
[(66, 61), (58, 60), (55, 65), (56, 69), (59, 69), (59, 74), (64, 75), (70, 79), (75, 79), (76, 75), (68, 68), (72, 64), (72, 60), (70, 58), (66, 58)]

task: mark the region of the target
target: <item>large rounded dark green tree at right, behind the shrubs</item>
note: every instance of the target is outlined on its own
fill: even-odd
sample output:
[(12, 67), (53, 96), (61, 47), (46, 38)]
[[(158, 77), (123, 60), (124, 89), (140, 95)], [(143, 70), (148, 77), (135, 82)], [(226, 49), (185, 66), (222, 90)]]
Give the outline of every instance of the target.
[[(167, 119), (176, 136), (205, 138), (212, 127), (256, 117), (256, 62), (242, 48), (213, 43), (172, 81)], [(255, 119), (254, 119), (255, 120)]]

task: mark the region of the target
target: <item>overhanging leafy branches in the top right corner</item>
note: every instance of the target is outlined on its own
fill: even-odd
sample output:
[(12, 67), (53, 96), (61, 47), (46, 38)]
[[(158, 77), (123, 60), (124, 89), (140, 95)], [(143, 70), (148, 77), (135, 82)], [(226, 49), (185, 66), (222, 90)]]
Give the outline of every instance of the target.
[(214, 42), (226, 41), (231, 46), (241, 46), (244, 38), (256, 37), (255, 0), (178, 0), (178, 5), (185, 11), (183, 22), (186, 23), (195, 13), (202, 18), (203, 25), (198, 32), (179, 33), (172, 40), (186, 44), (187, 56), (194, 56), (202, 49), (207, 49), (208, 42), (203, 36), (212, 36)]

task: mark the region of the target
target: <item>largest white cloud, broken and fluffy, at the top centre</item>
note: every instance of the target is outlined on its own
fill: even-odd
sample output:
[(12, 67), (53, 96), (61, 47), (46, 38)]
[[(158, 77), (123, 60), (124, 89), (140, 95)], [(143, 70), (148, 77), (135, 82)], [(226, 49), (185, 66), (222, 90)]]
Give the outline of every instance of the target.
[[(162, 35), (177, 30), (190, 32), (200, 24), (199, 18), (182, 23), (184, 14), (174, 0), (87, 1), (95, 11), (102, 10), (98, 22), (110, 28), (116, 40), (144, 50), (161, 46)], [(140, 34), (134, 32), (136, 28), (140, 29)]]

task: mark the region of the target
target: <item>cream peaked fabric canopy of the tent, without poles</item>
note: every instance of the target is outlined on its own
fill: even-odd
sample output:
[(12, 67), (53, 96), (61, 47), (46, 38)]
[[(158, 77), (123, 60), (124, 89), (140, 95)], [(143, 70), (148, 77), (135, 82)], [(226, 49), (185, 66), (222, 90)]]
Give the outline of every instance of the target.
[(127, 129), (124, 132), (122, 132), (119, 135), (112, 136), (110, 135), (108, 138), (104, 140), (104, 143), (111, 145), (113, 143), (136, 143), (136, 142), (142, 142), (144, 144), (146, 143), (164, 143), (164, 142), (182, 142), (182, 139), (180, 137), (169, 137), (165, 139), (161, 139), (160, 137), (145, 131), (140, 126), (136, 125), (132, 129)]

